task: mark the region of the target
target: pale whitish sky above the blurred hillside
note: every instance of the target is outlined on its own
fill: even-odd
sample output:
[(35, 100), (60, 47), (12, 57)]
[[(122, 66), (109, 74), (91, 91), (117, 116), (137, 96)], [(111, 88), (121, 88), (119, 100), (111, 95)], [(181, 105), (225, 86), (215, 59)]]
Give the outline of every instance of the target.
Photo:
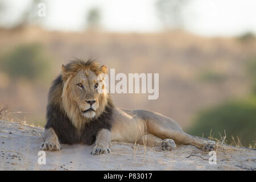
[[(0, 0), (1, 1), (1, 0)], [(6, 0), (6, 17), (11, 24), (30, 0)], [(161, 31), (156, 14), (156, 0), (46, 0), (43, 26), (49, 30), (81, 31), (86, 12), (99, 7), (102, 27), (115, 32)], [(236, 36), (251, 31), (256, 34), (256, 0), (192, 0), (183, 15), (185, 30), (203, 36)], [(1, 23), (1, 24), (2, 24)]]

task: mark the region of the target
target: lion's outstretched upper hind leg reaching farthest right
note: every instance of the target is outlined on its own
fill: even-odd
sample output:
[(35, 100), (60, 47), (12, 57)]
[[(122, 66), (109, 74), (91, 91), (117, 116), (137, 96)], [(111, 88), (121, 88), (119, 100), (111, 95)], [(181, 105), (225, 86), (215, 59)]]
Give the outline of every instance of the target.
[(167, 125), (162, 125), (161, 122), (148, 121), (147, 126), (151, 134), (162, 139), (170, 138), (175, 140), (176, 143), (190, 144), (204, 151), (212, 151), (215, 146), (215, 142), (213, 141), (193, 137), (182, 130), (176, 130)]

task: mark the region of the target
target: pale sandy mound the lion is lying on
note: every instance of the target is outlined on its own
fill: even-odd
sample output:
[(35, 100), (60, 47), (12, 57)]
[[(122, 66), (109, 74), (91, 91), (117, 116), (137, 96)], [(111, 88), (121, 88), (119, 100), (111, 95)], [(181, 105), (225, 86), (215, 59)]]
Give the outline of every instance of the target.
[(38, 164), (42, 127), (0, 121), (1, 170), (255, 170), (256, 151), (225, 146), (217, 150), (217, 164), (209, 164), (208, 152), (193, 146), (160, 148), (113, 142), (111, 154), (90, 155), (93, 146), (62, 145), (46, 151), (46, 164)]

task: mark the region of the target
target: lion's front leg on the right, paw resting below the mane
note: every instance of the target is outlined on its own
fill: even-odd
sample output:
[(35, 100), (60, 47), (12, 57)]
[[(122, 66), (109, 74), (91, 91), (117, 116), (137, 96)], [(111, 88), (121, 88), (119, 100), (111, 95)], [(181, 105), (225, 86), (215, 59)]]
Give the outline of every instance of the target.
[(107, 154), (110, 152), (109, 144), (111, 142), (111, 133), (108, 129), (101, 129), (96, 136), (95, 147), (90, 153), (92, 155)]

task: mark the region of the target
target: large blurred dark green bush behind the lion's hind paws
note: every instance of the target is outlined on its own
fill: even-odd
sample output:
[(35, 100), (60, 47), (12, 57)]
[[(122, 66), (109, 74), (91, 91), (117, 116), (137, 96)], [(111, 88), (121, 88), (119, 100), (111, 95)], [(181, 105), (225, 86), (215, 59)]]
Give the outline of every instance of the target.
[[(256, 140), (256, 97), (247, 100), (229, 101), (225, 104), (203, 110), (195, 119), (188, 133), (192, 135), (220, 138), (226, 131), (227, 143), (232, 143), (232, 135), (239, 138), (242, 145), (254, 145)], [(220, 134), (219, 134), (220, 133)]]

